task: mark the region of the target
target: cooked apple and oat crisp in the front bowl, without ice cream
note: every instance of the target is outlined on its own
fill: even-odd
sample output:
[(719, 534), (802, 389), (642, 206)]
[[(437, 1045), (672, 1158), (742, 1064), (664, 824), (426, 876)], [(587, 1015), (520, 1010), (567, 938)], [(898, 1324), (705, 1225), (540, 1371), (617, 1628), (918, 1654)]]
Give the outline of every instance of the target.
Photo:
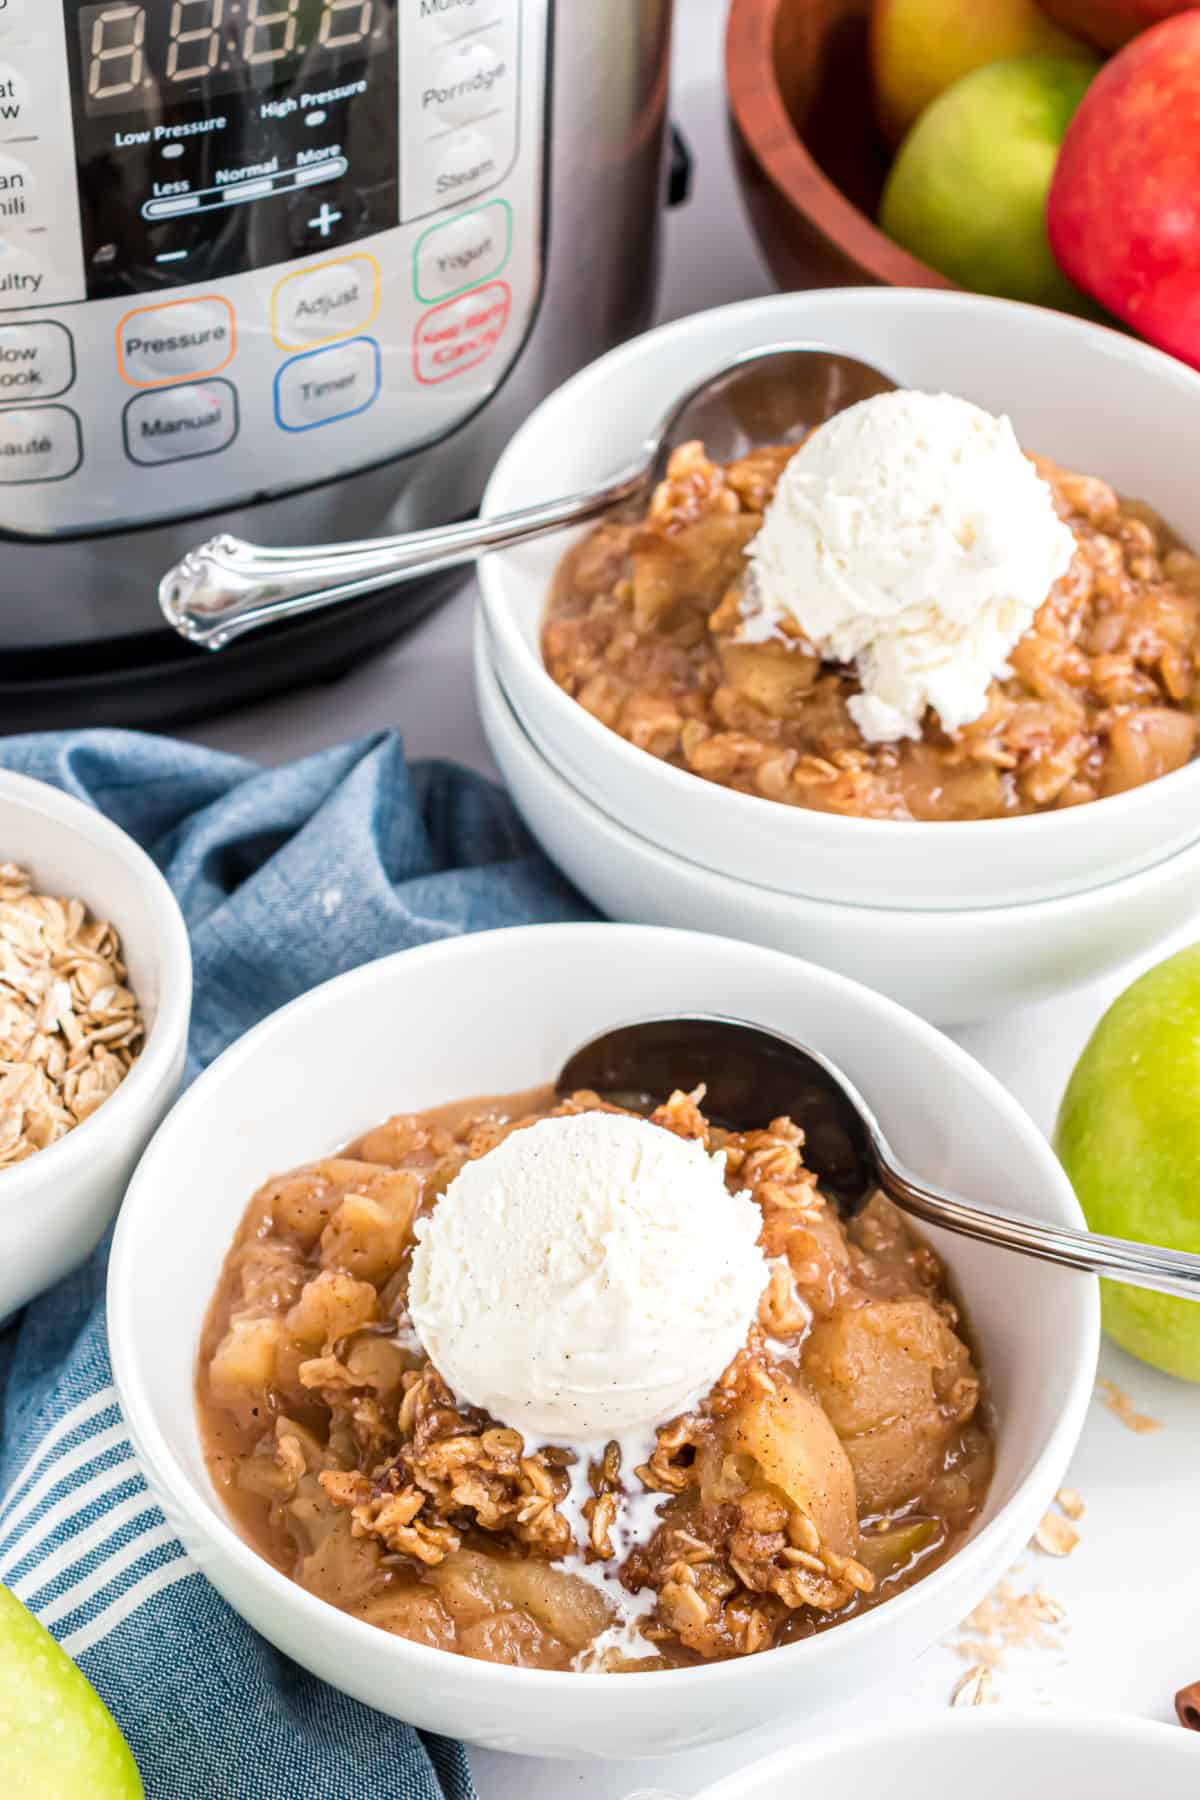
[(882, 1197), (844, 1224), (790, 1120), (655, 1125), (725, 1152), (770, 1282), (712, 1390), (644, 1462), (531, 1444), (450, 1391), (407, 1310), (414, 1224), (459, 1170), (579, 1093), (398, 1116), (268, 1181), (198, 1357), (209, 1469), (309, 1593), (419, 1643), (536, 1669), (666, 1669), (837, 1624), (963, 1539), (991, 1476), (981, 1379), (928, 1246)]

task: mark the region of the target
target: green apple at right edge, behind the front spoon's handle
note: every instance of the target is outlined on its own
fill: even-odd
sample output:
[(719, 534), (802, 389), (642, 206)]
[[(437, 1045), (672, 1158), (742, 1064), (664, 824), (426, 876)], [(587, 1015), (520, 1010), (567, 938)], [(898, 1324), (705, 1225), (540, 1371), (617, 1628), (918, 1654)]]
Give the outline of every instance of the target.
[[(1117, 999), (1076, 1064), (1056, 1147), (1092, 1231), (1200, 1251), (1200, 943)], [(1200, 1381), (1200, 1303), (1101, 1282), (1110, 1337)]]

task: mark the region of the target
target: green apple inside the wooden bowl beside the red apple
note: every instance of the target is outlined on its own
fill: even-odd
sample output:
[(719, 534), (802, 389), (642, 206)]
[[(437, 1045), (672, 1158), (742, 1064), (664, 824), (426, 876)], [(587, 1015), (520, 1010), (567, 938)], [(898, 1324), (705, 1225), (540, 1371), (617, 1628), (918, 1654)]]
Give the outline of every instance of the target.
[(963, 288), (1097, 317), (1045, 234), (1058, 146), (1096, 67), (1016, 56), (946, 88), (892, 164), (880, 207), (889, 238)]

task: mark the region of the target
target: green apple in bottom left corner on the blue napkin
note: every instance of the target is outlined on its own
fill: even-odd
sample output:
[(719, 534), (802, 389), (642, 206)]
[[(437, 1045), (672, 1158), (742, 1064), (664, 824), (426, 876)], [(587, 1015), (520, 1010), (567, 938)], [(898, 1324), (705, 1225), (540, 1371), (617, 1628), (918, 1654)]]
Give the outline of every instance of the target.
[(70, 1656), (0, 1586), (0, 1795), (142, 1800), (130, 1748)]

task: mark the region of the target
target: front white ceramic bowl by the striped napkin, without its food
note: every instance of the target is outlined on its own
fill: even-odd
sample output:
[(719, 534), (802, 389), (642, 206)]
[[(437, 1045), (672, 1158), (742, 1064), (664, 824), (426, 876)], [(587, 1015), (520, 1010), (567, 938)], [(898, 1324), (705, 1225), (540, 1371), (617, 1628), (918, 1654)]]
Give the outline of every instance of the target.
[(981, 1528), (955, 1557), (837, 1631), (655, 1676), (502, 1669), (389, 1638), (308, 1595), (243, 1541), (203, 1465), (193, 1372), (221, 1258), (255, 1186), (398, 1107), (527, 1089), (608, 1024), (696, 1006), (811, 1039), (874, 1102), (898, 1152), (936, 1181), (1079, 1222), (1065, 1175), (1015, 1100), (919, 1019), (752, 945), (619, 925), (459, 938), (317, 988), (200, 1076), (130, 1186), (108, 1330), (146, 1474), (230, 1606), (381, 1712), (498, 1750), (563, 1757), (666, 1753), (784, 1712), (811, 1717), (952, 1629), (1027, 1543), (1063, 1476), (1094, 1379), (1094, 1283), (941, 1240), (984, 1346), (999, 1418), (995, 1483)]

